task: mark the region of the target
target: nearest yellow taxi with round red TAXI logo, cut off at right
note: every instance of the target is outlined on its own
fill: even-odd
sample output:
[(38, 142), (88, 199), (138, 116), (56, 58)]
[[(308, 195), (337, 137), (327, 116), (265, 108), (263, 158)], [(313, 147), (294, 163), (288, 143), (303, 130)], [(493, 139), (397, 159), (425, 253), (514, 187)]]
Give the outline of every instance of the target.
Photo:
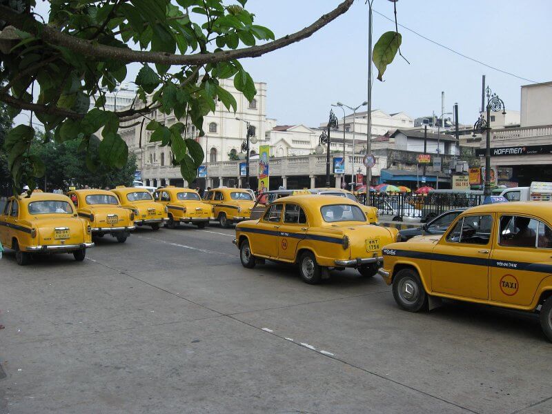
[(540, 313), (552, 341), (552, 204), (465, 210), (439, 236), (384, 247), (379, 270), (395, 301), (417, 312), (435, 297)]

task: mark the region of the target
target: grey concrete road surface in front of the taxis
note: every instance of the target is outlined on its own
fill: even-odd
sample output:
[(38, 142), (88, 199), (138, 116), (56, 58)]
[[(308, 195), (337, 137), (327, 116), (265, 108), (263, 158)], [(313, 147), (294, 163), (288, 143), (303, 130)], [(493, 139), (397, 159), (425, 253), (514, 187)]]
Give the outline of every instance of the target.
[(242, 268), (233, 230), (0, 260), (0, 413), (550, 413), (531, 315), (400, 311), (380, 278)]

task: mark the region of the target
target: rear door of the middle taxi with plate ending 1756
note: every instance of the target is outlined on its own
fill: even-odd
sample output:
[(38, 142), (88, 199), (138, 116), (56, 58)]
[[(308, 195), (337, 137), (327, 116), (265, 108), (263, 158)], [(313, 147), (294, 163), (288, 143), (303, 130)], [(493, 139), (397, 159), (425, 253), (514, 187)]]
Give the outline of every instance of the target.
[(307, 230), (307, 219), (301, 206), (295, 203), (286, 203), (284, 219), (279, 228), (278, 257), (284, 260), (295, 259), (297, 244), (306, 237)]

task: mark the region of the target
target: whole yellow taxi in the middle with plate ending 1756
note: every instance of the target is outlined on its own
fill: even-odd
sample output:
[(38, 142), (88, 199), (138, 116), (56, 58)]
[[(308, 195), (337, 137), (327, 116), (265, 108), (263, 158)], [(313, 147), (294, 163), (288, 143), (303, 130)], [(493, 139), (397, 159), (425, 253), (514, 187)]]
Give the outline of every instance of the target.
[(262, 259), (295, 263), (304, 282), (316, 284), (329, 276), (329, 268), (375, 275), (382, 247), (395, 241), (397, 233), (368, 224), (355, 201), (291, 195), (268, 205), (260, 219), (239, 223), (234, 243), (246, 268)]

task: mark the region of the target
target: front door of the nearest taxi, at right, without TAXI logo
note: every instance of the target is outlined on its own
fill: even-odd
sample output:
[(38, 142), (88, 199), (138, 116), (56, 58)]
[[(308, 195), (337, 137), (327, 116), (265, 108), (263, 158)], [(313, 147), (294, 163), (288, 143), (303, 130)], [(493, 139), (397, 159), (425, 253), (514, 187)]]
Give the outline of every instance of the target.
[(494, 215), (463, 215), (433, 248), (431, 288), (438, 293), (489, 299)]

